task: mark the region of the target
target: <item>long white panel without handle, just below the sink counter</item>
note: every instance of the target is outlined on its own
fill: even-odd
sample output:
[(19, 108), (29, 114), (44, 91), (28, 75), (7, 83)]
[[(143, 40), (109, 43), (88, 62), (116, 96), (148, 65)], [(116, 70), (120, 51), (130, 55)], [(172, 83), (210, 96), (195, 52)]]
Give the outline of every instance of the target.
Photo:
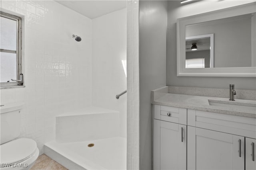
[(188, 109), (188, 125), (256, 138), (256, 119)]

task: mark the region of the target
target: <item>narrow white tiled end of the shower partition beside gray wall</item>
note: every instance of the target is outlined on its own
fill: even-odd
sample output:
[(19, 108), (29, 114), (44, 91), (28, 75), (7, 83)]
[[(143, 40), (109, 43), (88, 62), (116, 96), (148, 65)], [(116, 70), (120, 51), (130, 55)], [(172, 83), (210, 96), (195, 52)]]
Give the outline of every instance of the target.
[(139, 1), (127, 1), (127, 169), (139, 169)]

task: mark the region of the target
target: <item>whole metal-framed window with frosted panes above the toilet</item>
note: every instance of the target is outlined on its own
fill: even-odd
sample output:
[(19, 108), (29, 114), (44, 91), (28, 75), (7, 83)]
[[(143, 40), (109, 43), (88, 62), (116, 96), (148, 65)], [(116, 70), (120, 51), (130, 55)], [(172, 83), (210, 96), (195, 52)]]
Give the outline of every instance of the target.
[[(1, 86), (23, 84), (21, 65), (21, 18), (1, 12), (0, 82)], [(21, 81), (12, 81), (21, 80)]]

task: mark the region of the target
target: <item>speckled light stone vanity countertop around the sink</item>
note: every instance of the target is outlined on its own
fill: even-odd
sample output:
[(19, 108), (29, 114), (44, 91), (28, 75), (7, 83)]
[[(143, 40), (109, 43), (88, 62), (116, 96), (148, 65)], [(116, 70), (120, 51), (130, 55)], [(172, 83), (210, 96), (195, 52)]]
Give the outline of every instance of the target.
[[(212, 106), (209, 104), (228, 104), (227, 106)], [(163, 106), (172, 106), (185, 109), (194, 109), (200, 111), (209, 111), (215, 113), (223, 113), (228, 115), (237, 115), (243, 117), (256, 118), (256, 101), (235, 99), (230, 101), (228, 98), (218, 98), (210, 96), (193, 96), (186, 94), (172, 94), (166, 90), (153, 90), (151, 96), (151, 103)], [(230, 106), (234, 105), (234, 107)], [(247, 108), (236, 108), (236, 105), (249, 106)], [(238, 106), (239, 107), (239, 106)]]

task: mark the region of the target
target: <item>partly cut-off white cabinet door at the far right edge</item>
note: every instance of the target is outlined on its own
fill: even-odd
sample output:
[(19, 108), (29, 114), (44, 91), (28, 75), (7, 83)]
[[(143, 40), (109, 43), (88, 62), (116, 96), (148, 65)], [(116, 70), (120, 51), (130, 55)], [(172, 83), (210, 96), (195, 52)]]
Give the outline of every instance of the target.
[(245, 138), (245, 169), (256, 170), (256, 139)]

